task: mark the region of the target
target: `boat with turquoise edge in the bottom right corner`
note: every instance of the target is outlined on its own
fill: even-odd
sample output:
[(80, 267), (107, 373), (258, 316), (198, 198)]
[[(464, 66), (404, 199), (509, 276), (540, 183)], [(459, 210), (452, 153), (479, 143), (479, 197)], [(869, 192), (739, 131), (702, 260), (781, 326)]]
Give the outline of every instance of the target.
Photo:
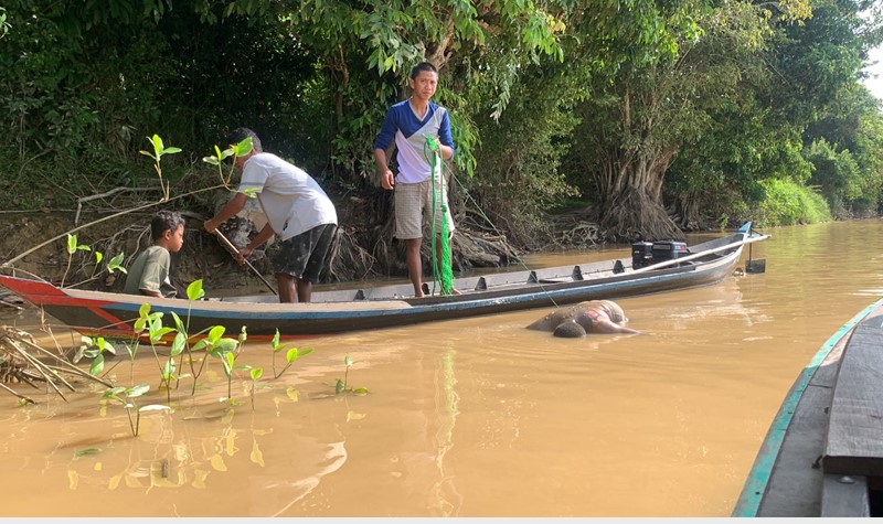
[(883, 514), (883, 299), (822, 344), (757, 452), (732, 516)]

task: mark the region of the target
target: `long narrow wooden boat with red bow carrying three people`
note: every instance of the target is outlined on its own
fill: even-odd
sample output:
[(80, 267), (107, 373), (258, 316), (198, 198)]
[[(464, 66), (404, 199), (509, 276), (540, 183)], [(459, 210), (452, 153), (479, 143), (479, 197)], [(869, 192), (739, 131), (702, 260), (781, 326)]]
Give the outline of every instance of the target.
[[(413, 297), (409, 284), (313, 291), (309, 303), (278, 303), (275, 296), (189, 301), (61, 289), (50, 282), (0, 275), (0, 286), (72, 329), (88, 335), (129, 339), (142, 303), (151, 311), (189, 318), (189, 332), (224, 325), (231, 336), (307, 338), (419, 322), (494, 314), (584, 300), (653, 293), (717, 282), (732, 275), (743, 247), (768, 235), (746, 223), (734, 234), (690, 247), (689, 254), (646, 267), (631, 258), (536, 270), (457, 278), (459, 295)], [(408, 297), (411, 295), (411, 297)]]

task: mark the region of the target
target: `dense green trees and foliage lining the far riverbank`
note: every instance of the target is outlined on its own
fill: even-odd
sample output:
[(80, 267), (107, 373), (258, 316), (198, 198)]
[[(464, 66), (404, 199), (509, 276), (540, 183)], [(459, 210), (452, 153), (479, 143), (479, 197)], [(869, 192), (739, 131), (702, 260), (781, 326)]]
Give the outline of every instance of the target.
[(428, 60), (475, 231), (530, 246), (574, 197), (611, 239), (827, 220), (819, 195), (869, 216), (883, 118), (860, 78), (882, 32), (871, 0), (12, 0), (0, 203), (151, 188), (153, 133), (184, 151), (173, 192), (209, 186), (200, 159), (245, 125), (339, 205), (371, 202), (342, 216), (373, 245), (390, 220), (373, 141)]

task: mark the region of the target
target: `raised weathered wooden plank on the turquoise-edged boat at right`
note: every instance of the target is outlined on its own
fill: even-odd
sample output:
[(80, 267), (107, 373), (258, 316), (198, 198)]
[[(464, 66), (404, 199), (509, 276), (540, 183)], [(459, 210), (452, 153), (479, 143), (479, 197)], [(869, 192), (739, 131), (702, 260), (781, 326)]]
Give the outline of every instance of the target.
[(883, 475), (883, 309), (852, 333), (837, 376), (822, 466), (826, 473)]

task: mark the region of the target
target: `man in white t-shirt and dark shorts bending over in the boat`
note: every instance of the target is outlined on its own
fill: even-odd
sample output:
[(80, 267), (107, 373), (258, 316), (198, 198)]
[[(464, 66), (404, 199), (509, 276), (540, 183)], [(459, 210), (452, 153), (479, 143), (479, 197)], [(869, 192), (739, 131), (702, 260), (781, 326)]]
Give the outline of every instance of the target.
[(309, 302), (312, 282), (319, 280), (329, 263), (338, 224), (334, 204), (306, 171), (262, 152), (260, 139), (251, 129), (234, 129), (227, 143), (240, 143), (246, 138), (252, 139), (252, 151), (235, 160), (236, 170), (242, 173), (236, 195), (205, 221), (205, 231), (214, 233), (219, 225), (242, 211), (248, 199), (246, 191), (256, 193), (267, 224), (240, 250), (240, 258), (244, 260), (275, 233), (281, 239), (273, 261), (279, 302)]

